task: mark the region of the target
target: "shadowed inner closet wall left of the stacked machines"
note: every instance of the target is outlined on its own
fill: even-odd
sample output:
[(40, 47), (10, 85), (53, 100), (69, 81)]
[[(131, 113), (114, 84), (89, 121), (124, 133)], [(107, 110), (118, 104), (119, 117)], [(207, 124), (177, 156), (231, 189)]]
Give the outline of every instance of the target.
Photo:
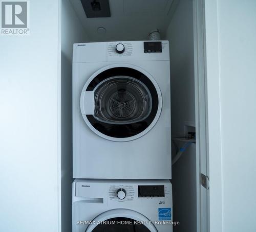
[(61, 227), (72, 230), (72, 53), (88, 37), (69, 0), (61, 5)]

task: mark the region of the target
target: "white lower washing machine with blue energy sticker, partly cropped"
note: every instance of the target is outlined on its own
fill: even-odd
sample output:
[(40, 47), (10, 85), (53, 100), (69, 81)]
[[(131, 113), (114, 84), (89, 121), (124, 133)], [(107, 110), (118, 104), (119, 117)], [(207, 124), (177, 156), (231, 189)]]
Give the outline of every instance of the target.
[(73, 232), (172, 232), (169, 180), (73, 182)]

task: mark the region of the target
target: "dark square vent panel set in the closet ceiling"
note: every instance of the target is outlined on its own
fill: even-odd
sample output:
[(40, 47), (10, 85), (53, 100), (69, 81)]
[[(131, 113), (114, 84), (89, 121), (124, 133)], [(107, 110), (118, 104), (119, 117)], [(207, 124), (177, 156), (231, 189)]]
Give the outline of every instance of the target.
[(110, 17), (109, 0), (81, 0), (81, 3), (88, 18)]

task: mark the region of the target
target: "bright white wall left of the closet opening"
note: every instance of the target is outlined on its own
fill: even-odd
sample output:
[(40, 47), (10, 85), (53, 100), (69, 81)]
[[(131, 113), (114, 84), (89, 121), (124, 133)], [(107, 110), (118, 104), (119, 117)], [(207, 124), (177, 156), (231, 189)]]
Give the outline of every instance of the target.
[(0, 231), (59, 229), (59, 13), (30, 1), (30, 35), (0, 36)]

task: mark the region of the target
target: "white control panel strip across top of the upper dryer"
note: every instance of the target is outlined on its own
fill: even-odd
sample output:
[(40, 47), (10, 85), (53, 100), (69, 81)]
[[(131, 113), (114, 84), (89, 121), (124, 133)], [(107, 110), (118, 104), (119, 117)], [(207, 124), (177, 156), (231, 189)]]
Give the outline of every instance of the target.
[(74, 43), (73, 63), (169, 60), (169, 41)]

